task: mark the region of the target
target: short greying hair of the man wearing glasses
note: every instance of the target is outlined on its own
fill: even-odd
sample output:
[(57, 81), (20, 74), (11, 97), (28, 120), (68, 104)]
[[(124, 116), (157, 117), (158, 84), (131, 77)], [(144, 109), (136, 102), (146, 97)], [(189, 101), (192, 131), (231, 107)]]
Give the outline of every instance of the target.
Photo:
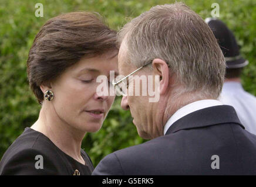
[(218, 98), (225, 60), (204, 20), (183, 3), (158, 5), (134, 18), (118, 33), (127, 63), (140, 67), (160, 58), (170, 65), (184, 92)]

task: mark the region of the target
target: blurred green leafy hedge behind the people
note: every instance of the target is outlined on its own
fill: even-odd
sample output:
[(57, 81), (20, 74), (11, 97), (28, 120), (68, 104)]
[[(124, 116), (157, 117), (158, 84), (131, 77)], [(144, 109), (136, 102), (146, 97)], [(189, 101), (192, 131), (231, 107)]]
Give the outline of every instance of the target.
[[(131, 18), (151, 6), (171, 4), (164, 0), (1, 0), (0, 1), (0, 159), (11, 143), (37, 119), (41, 106), (36, 101), (26, 74), (26, 60), (33, 39), (49, 18), (73, 11), (96, 11), (119, 30)], [(256, 1), (185, 0), (185, 4), (203, 19), (211, 17), (213, 3), (220, 5), (220, 17), (234, 32), (241, 55), (249, 61), (242, 74), (245, 91), (256, 95)], [(43, 5), (43, 17), (35, 16), (37, 3)], [(129, 111), (120, 108), (117, 97), (97, 133), (87, 133), (82, 148), (96, 166), (105, 155), (121, 148), (143, 143), (137, 135)], [(143, 111), (142, 111), (143, 112)], [(256, 113), (255, 113), (256, 115)]]

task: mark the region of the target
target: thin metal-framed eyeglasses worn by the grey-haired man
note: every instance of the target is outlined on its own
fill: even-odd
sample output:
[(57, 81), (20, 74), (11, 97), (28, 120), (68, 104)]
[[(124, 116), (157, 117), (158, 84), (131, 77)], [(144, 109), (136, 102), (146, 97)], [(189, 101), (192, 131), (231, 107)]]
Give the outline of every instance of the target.
[(142, 67), (139, 67), (137, 70), (131, 72), (129, 75), (127, 75), (126, 77), (124, 77), (118, 81), (116, 79), (113, 79), (112, 85), (114, 87), (114, 90), (117, 93), (119, 93), (119, 95), (127, 96), (127, 89), (129, 86), (129, 84), (127, 84), (127, 81), (129, 81), (129, 79), (127, 80), (127, 78), (129, 78), (130, 75), (134, 74), (135, 72), (139, 71), (140, 69), (142, 69), (143, 67), (145, 67), (151, 63), (152, 63), (152, 61), (150, 61), (150, 63), (148, 63), (146, 65), (143, 65)]

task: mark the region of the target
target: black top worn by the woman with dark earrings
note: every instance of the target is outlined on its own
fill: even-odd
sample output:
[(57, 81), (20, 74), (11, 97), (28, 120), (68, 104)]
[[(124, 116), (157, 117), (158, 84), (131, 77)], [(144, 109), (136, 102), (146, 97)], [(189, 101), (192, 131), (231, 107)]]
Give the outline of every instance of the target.
[(93, 164), (81, 150), (85, 165), (53, 144), (39, 131), (29, 127), (16, 138), (0, 162), (0, 175), (91, 175)]

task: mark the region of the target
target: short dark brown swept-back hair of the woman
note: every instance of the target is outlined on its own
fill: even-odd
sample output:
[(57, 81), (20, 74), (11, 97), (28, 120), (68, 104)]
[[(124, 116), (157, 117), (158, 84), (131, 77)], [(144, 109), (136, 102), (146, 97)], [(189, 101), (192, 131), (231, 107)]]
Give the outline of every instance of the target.
[(56, 79), (82, 57), (118, 51), (116, 31), (96, 12), (71, 12), (49, 19), (36, 35), (29, 51), (29, 85), (43, 101), (40, 85)]

